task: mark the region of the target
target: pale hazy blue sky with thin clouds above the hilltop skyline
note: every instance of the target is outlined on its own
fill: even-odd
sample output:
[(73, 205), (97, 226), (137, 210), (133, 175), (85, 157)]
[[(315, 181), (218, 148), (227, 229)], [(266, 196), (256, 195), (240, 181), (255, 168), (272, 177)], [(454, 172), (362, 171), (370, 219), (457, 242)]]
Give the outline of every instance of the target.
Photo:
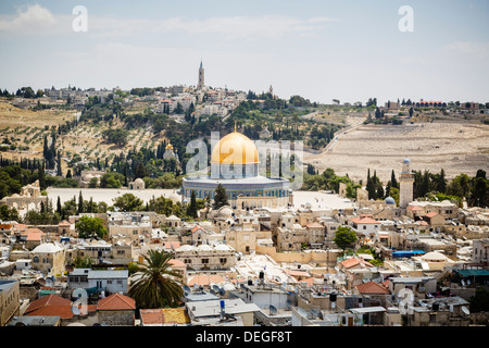
[(2, 0), (0, 47), (10, 91), (190, 86), (202, 60), (212, 87), (280, 98), (489, 101), (489, 1)]

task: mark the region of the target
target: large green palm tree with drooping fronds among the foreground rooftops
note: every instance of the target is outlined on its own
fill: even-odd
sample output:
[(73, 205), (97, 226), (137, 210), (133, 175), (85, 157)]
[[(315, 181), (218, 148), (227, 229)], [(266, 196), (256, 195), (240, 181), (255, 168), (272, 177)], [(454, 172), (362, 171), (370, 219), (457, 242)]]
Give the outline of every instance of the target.
[(172, 253), (164, 250), (149, 250), (145, 256), (147, 265), (138, 265), (138, 279), (130, 286), (129, 296), (139, 308), (162, 308), (175, 306), (184, 296), (179, 271), (171, 269)]

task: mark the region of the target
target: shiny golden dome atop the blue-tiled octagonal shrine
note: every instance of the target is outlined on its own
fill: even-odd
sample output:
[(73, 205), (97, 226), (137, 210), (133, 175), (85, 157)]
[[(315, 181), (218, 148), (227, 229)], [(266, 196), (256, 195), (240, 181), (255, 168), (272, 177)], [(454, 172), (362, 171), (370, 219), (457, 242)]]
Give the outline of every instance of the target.
[(238, 132), (223, 137), (212, 150), (211, 163), (216, 164), (255, 164), (259, 153), (254, 142)]

